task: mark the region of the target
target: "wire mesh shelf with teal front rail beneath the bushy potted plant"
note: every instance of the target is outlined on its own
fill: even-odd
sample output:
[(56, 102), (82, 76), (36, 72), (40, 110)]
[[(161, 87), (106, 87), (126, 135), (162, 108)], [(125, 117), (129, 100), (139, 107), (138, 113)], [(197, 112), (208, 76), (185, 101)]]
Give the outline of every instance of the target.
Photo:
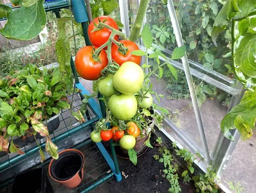
[[(73, 110), (81, 109), (81, 97), (80, 94), (75, 94), (69, 96), (68, 99), (72, 100)], [(94, 124), (99, 120), (98, 115), (92, 110), (90, 105), (87, 107), (87, 111), (84, 115), (85, 123), (78, 122), (74, 117), (71, 116), (71, 110), (63, 110), (60, 116), (60, 125), (59, 127), (50, 134), (52, 141), (58, 146), (58, 150), (71, 148), (76, 146), (78, 143), (85, 141), (89, 138), (91, 129)], [(45, 139), (37, 139), (37, 142), (40, 146), (45, 146)], [(40, 155), (38, 153), (39, 147), (37, 142), (34, 141), (28, 145), (21, 148), (21, 151), (24, 151), (24, 155), (18, 155), (16, 153), (7, 154), (3, 157), (0, 157), (0, 184), (8, 181), (14, 175), (28, 168), (33, 167), (36, 164), (40, 163)], [(44, 151), (45, 158), (50, 158), (50, 154)]]

